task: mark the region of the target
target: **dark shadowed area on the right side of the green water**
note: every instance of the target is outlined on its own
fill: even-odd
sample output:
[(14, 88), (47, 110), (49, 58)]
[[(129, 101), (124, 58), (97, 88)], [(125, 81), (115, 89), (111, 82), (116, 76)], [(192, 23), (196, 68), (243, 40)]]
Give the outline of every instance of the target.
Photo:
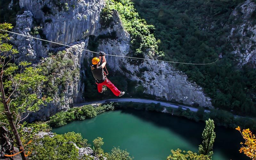
[[(136, 109), (120, 109), (122, 113), (131, 114), (137, 116), (143, 121), (152, 123), (158, 127), (164, 127), (171, 132), (175, 132), (189, 143), (202, 144), (203, 139), (202, 132), (205, 127), (204, 122), (195, 122), (188, 120), (184, 117), (172, 116), (167, 113), (160, 113), (146, 110)], [(213, 153), (218, 151), (223, 155), (226, 155), (228, 159), (249, 159), (244, 154), (239, 153), (240, 142), (243, 141), (240, 133), (235, 129), (228, 129), (225, 127), (215, 126), (216, 138), (213, 144)], [(177, 148), (169, 148), (170, 150)], [(180, 148), (182, 149), (182, 148)], [(171, 153), (171, 152), (170, 152)]]

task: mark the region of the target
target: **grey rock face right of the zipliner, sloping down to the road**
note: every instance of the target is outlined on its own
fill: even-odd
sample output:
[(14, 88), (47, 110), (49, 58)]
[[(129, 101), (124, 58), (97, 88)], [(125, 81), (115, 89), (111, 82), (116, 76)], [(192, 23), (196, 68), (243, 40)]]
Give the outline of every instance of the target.
[[(130, 36), (124, 30), (116, 11), (113, 12), (113, 19), (114, 22), (110, 25), (113, 27), (107, 30), (103, 29), (101, 33), (111, 34), (116, 32), (117, 38), (102, 39), (98, 50), (104, 51), (107, 54), (126, 56), (130, 50)], [(211, 99), (204, 94), (203, 89), (196, 83), (189, 82), (188, 77), (182, 72), (175, 70), (171, 64), (145, 60), (140, 61), (140, 64), (136, 65), (129, 63), (128, 60), (130, 59), (113, 56), (107, 57), (108, 65), (111, 69), (141, 83), (145, 89), (144, 93), (187, 105), (212, 106)]]

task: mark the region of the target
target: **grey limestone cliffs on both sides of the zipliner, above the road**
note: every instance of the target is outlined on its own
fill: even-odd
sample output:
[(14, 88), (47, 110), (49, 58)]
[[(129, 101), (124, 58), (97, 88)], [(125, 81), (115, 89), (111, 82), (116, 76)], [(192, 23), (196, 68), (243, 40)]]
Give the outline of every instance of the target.
[[(125, 56), (130, 51), (130, 35), (124, 30), (116, 11), (113, 11), (114, 21), (111, 27), (101, 28), (99, 19), (103, 6), (104, 1), (102, 0), (20, 0), (20, 7), (24, 7), (25, 12), (17, 16), (17, 23), (13, 31), (31, 35), (32, 28), (40, 26), (42, 33), (35, 35), (36, 37), (83, 49), (87, 49), (90, 35), (115, 33), (115, 39), (101, 39), (98, 50)], [(86, 76), (81, 66), (84, 59), (90, 61), (88, 58), (92, 57), (92, 53), (60, 47), (51, 43), (44, 44), (39, 40), (22, 36), (13, 35), (12, 37), (12, 43), (20, 51), (17, 62), (27, 60), (35, 63), (35, 66), (47, 62), (51, 66), (53, 61), (49, 53), (63, 50), (66, 51), (63, 58), (72, 60), (70, 66), (60, 67), (58, 73), (51, 73), (53, 75), (51, 84), (53, 86), (58, 84), (55, 86), (57, 91), (54, 93), (53, 102), (31, 114), (29, 121), (47, 120), (56, 112), (67, 110), (73, 103), (84, 101), (82, 95), (84, 85), (81, 82), (81, 77), (86, 78)], [(109, 56), (107, 59), (111, 69), (141, 83), (145, 93), (188, 105), (212, 107), (211, 99), (204, 94), (203, 89), (195, 83), (189, 82), (188, 77), (175, 70), (171, 64), (156, 61), (143, 61), (138, 64), (136, 60), (137, 64), (133, 64), (130, 63), (130, 59), (113, 56)], [(145, 71), (142, 72), (141, 68), (145, 67)], [(124, 68), (126, 69), (124, 70)], [(78, 69), (80, 76), (68, 78), (62, 85), (57, 83), (61, 77), (67, 76), (65, 73), (70, 73), (68, 76), (72, 76), (71, 73), (75, 69)], [(43, 91), (39, 90), (38, 92), (42, 96)]]

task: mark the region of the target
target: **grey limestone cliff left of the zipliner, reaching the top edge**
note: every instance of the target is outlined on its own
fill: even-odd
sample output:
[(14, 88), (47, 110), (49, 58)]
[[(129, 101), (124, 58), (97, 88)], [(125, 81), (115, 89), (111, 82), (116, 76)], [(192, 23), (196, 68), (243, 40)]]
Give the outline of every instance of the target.
[[(60, 3), (61, 5), (57, 5), (56, 3)], [(43, 30), (41, 35), (46, 36), (47, 40), (86, 49), (88, 36), (95, 34), (96, 30), (100, 27), (98, 20), (103, 4), (104, 1), (100, 0), (63, 0), (58, 2), (50, 0), (43, 2), (39, 0), (20, 0), (20, 6), (24, 7), (27, 11), (17, 16), (16, 26), (13, 32), (42, 38), (40, 35), (31, 34), (32, 28), (38, 26), (39, 23), (39, 26), (41, 26)], [(68, 7), (68, 9), (66, 7)], [(16, 56), (16, 63), (25, 60), (32, 62), (36, 66), (44, 63), (46, 59), (49, 59), (48, 53), (50, 50), (50, 52), (66, 51), (67, 55), (65, 55), (65, 57), (72, 60), (74, 64), (68, 68), (60, 68), (59, 72), (55, 74), (52, 80), (53, 86), (56, 85), (55, 82), (58, 78), (63, 77), (64, 73), (71, 73), (78, 69), (80, 75), (84, 75), (84, 70), (80, 69), (86, 52), (82, 50), (65, 47), (54, 49), (51, 43), (48, 45), (40, 40), (15, 34), (12, 35), (11, 42), (20, 52)], [(51, 66), (53, 61), (49, 60), (47, 63)], [(47, 106), (42, 106), (39, 111), (30, 113), (27, 121), (47, 120), (55, 113), (69, 109), (72, 107), (73, 103), (84, 101), (84, 85), (81, 83), (80, 76), (68, 79), (65, 82), (65, 86), (66, 89), (63, 91), (61, 91), (62, 86), (57, 86), (58, 91), (55, 93), (54, 97), (52, 97), (53, 101), (47, 104)], [(37, 92), (41, 98), (42, 89), (39, 89)]]

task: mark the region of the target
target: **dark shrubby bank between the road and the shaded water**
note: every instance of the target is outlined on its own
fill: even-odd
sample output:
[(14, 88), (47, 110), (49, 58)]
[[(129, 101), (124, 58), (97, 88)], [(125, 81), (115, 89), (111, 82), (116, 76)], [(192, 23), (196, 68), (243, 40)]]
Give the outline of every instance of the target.
[(118, 102), (114, 103), (116, 108), (134, 108), (134, 109), (146, 109), (149, 111), (163, 112), (169, 113), (173, 116), (182, 116), (186, 117), (190, 120), (194, 120), (196, 122), (205, 121), (209, 118), (214, 120), (215, 125), (224, 126), (227, 128), (235, 129), (237, 126), (241, 126), (242, 128), (250, 128), (251, 130), (256, 130), (256, 122), (254, 118), (251, 117), (242, 117), (242, 116), (234, 116), (228, 111), (218, 110), (218, 109), (210, 109), (208, 112), (205, 112), (204, 108), (197, 108), (197, 111), (192, 111), (190, 108), (186, 110), (184, 107), (179, 106), (178, 108), (170, 108), (161, 106), (160, 103), (150, 103), (146, 105), (145, 103), (133, 103), (133, 102)]

